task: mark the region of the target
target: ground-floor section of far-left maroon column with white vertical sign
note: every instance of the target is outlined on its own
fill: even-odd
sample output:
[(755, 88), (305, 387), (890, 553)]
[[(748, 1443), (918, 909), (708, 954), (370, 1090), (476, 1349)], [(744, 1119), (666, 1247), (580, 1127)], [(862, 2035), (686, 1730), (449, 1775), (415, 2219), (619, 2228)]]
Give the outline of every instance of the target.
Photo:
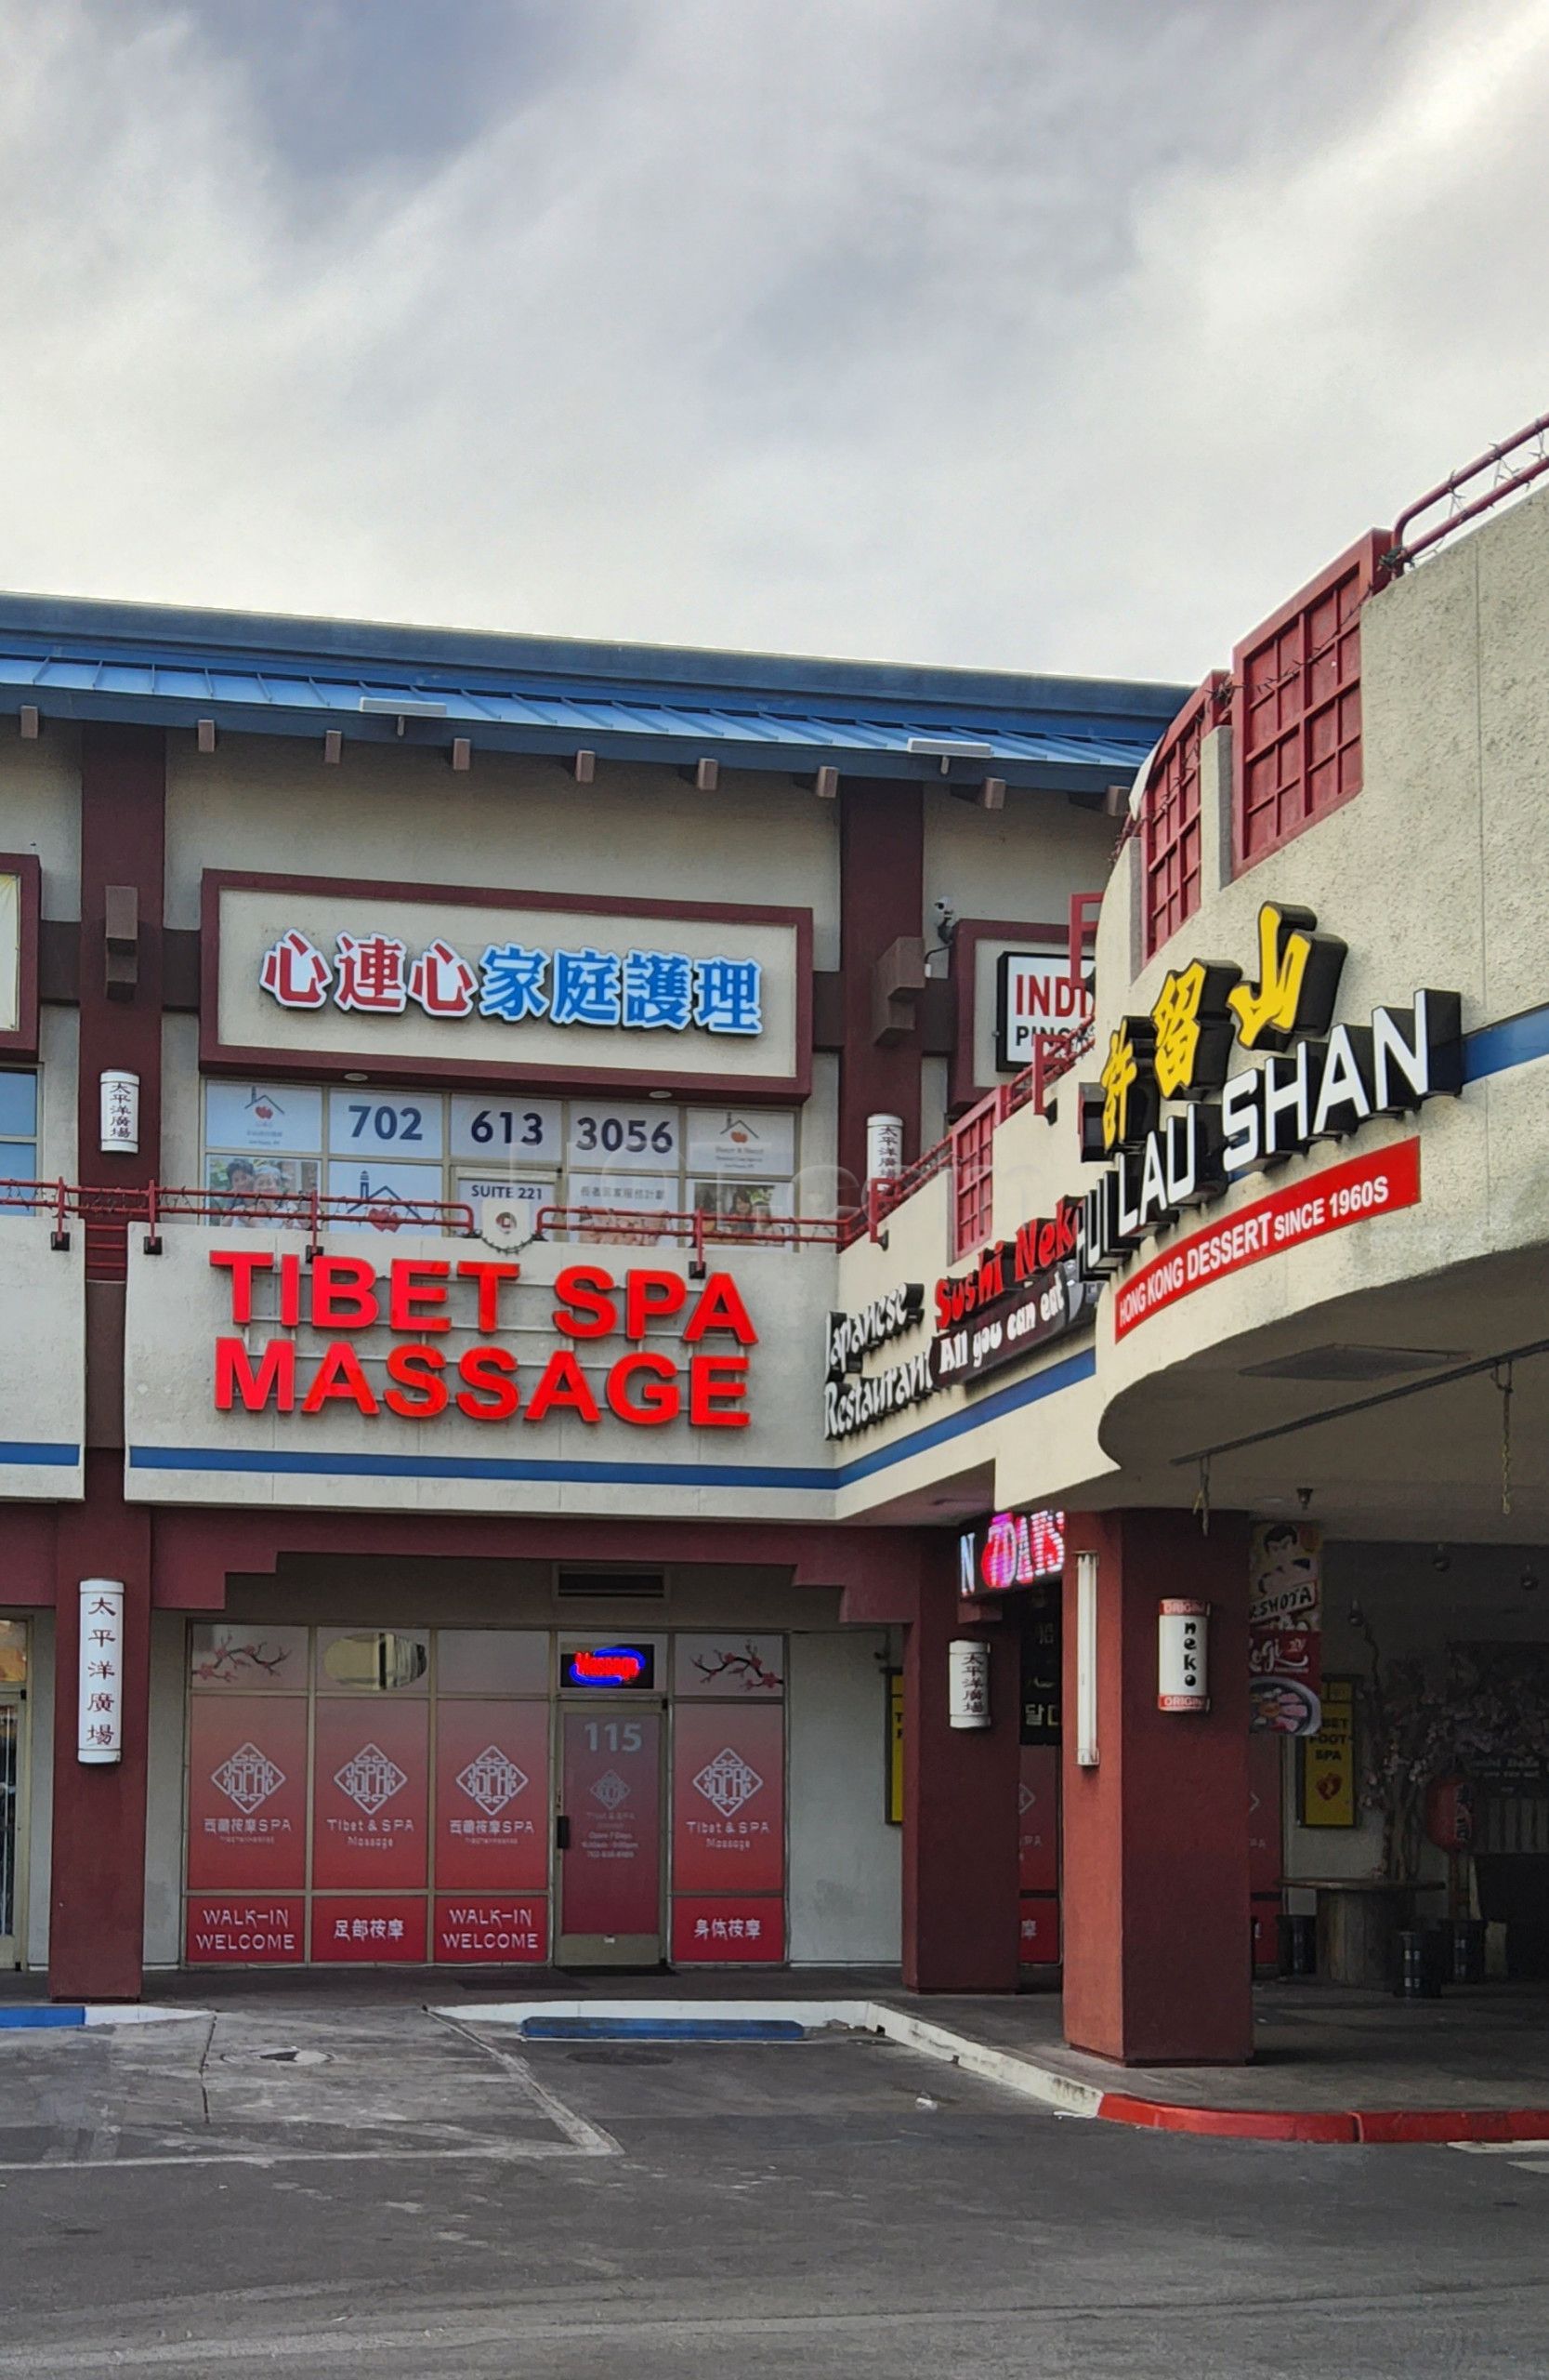
[[(81, 1580), (124, 1580), (124, 1756), (76, 1759)], [(86, 1502), (59, 1507), (55, 1564), (52, 1999), (138, 1999), (145, 1937), (150, 1507), (124, 1502), (124, 1457), (86, 1457)]]

